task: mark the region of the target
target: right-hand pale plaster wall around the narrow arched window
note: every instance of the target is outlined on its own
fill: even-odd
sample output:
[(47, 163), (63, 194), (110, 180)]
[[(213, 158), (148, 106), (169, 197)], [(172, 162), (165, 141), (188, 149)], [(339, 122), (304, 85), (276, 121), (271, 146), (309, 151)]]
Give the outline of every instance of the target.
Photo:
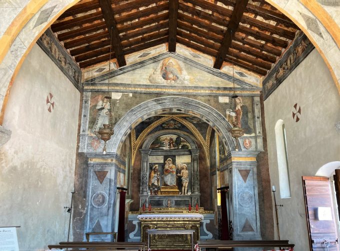
[[(301, 107), (298, 122), (292, 117), (295, 103)], [(278, 210), (280, 238), (295, 244), (296, 250), (309, 250), (301, 176), (315, 176), (321, 166), (340, 158), (340, 135), (334, 126), (340, 120), (340, 98), (317, 50), (264, 101), (264, 116), (271, 185), (276, 187), (277, 204), (283, 204)], [(286, 130), (291, 192), (287, 199), (280, 199), (279, 191), (274, 130), (279, 119)]]

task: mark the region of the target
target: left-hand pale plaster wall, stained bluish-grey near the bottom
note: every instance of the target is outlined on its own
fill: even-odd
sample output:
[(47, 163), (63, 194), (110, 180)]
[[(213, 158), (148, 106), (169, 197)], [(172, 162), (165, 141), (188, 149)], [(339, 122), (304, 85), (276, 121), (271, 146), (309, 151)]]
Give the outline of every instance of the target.
[(12, 134), (0, 148), (0, 222), (21, 226), (20, 251), (43, 250), (67, 240), (63, 207), (73, 188), (80, 93), (34, 45), (12, 94), (3, 121)]

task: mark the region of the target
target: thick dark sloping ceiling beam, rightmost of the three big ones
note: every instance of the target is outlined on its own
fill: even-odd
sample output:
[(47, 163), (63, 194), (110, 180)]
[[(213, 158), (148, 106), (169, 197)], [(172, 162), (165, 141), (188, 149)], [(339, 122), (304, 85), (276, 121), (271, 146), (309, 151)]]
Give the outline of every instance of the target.
[(239, 21), (241, 20), (244, 9), (248, 3), (248, 0), (238, 0), (234, 6), (232, 15), (230, 17), (230, 21), (228, 23), (228, 28), (224, 34), (221, 46), (218, 50), (218, 54), (216, 56), (215, 63), (213, 64), (213, 68), (220, 69), (226, 54), (228, 53), (228, 49), (230, 47), (233, 35), (239, 25)]

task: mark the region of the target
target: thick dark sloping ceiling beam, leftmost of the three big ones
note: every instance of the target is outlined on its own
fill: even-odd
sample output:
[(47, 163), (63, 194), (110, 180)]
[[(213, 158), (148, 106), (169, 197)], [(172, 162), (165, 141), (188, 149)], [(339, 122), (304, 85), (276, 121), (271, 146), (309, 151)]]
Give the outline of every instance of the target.
[(111, 6), (110, 0), (99, 0), (99, 4), (101, 7), (102, 14), (104, 16), (108, 33), (111, 37), (111, 46), (114, 50), (115, 57), (117, 59), (119, 67), (125, 66), (126, 61), (124, 58), (123, 48), (121, 45), (119, 32), (117, 29), (117, 24), (114, 19), (114, 12)]

